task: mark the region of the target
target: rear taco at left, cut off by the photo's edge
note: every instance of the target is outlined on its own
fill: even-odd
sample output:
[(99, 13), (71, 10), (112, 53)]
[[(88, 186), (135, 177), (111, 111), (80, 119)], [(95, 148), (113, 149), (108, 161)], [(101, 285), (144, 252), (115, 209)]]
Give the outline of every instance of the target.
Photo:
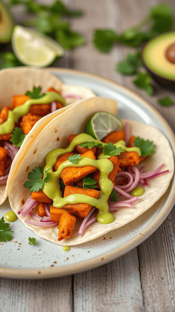
[[(0, 204), (2, 204), (8, 195), (7, 178), (10, 178), (11, 172), (16, 168), (12, 161), (25, 135), (29, 131), (31, 133), (35, 124), (38, 129), (43, 129), (52, 118), (67, 109), (66, 105), (70, 103), (73, 105), (77, 100), (94, 96), (94, 93), (85, 87), (65, 85), (49, 72), (29, 67), (2, 70), (0, 81)], [(28, 137), (26, 136), (20, 153), (25, 153), (34, 136), (35, 130), (34, 134), (31, 133), (31, 138), (28, 138), (29, 141), (26, 141)]]

